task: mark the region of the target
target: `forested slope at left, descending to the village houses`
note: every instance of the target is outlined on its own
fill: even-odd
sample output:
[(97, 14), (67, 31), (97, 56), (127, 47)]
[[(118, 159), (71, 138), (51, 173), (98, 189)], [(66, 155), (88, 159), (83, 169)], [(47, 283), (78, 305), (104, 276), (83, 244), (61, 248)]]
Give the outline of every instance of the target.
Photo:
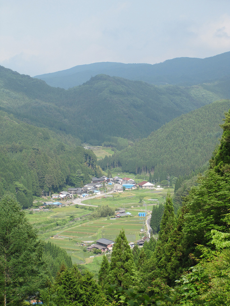
[(15, 195), (23, 208), (42, 191), (80, 187), (95, 175), (97, 158), (79, 140), (21, 122), (0, 111), (0, 197)]

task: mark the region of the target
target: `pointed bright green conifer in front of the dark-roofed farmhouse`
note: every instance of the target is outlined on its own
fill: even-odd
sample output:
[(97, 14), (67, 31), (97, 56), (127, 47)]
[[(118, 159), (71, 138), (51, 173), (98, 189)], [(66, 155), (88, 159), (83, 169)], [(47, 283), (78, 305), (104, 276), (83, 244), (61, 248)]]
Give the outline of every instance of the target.
[(122, 229), (113, 245), (111, 263), (109, 266), (109, 283), (117, 284), (123, 288), (130, 288), (133, 285), (135, 264), (125, 231)]

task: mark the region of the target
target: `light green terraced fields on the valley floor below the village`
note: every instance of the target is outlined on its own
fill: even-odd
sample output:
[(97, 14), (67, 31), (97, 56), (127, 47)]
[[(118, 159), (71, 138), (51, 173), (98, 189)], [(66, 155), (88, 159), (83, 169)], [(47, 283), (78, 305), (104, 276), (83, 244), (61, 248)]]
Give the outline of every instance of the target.
[[(171, 189), (171, 194), (173, 190)], [(38, 231), (39, 238), (45, 241), (51, 241), (61, 248), (66, 249), (67, 253), (71, 255), (73, 263), (85, 263), (87, 268), (98, 272), (98, 265), (101, 263), (102, 256), (93, 256), (91, 252), (84, 252), (80, 243), (92, 244), (99, 238), (107, 238), (115, 241), (120, 230), (124, 228), (125, 235), (128, 241), (135, 242), (144, 235), (140, 232), (143, 228), (145, 219), (138, 217), (138, 212), (145, 211), (145, 204), (147, 211), (151, 212), (153, 205), (164, 203), (168, 190), (154, 192), (153, 190), (133, 190), (125, 191), (118, 194), (113, 194), (113, 197), (98, 197), (90, 199), (91, 205), (109, 205), (115, 210), (125, 208), (133, 217), (110, 219), (99, 218), (97, 220), (90, 220), (86, 215), (90, 213), (86, 209), (76, 208), (75, 205), (66, 207), (55, 207), (50, 211), (35, 211), (30, 214), (27, 211), (27, 218)], [(144, 196), (144, 203), (138, 203), (140, 200), (138, 196)], [(150, 200), (152, 199), (152, 200)], [(89, 199), (82, 201), (82, 203), (89, 204)], [(70, 216), (80, 218), (80, 220), (70, 222)], [(53, 237), (55, 236), (55, 237)]]

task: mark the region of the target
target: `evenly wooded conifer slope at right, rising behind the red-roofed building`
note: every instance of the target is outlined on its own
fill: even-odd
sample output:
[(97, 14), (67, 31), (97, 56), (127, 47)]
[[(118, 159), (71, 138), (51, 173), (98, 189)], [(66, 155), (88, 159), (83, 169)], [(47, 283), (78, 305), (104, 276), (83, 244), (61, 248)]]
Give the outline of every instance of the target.
[(221, 136), (219, 122), (229, 108), (230, 100), (221, 100), (183, 114), (99, 164), (104, 170), (108, 165), (136, 174), (151, 172), (153, 179), (189, 177), (209, 160)]

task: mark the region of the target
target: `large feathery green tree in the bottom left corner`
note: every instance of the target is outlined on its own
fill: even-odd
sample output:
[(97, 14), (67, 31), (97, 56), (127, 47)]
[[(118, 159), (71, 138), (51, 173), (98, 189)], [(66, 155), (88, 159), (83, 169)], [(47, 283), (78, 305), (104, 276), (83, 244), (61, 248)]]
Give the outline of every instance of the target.
[(38, 289), (41, 245), (12, 196), (2, 198), (0, 211), (0, 299), (18, 306)]

